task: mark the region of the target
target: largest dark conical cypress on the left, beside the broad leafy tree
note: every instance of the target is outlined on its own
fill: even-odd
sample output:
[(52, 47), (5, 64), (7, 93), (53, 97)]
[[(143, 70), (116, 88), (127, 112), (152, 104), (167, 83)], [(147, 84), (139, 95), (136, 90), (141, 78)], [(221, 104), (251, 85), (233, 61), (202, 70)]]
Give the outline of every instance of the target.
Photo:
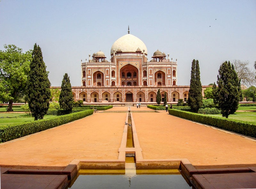
[(35, 120), (44, 119), (49, 109), (50, 86), (41, 48), (35, 44), (27, 82), (28, 105)]

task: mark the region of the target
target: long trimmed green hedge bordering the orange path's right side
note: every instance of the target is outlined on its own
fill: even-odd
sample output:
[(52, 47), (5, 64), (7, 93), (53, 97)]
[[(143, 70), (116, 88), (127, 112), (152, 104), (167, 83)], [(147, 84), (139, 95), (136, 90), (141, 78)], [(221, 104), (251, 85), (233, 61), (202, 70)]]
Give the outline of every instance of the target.
[(227, 118), (220, 118), (215, 116), (209, 116), (204, 114), (186, 112), (182, 110), (169, 109), (169, 114), (184, 118), (187, 120), (196, 121), (206, 125), (219, 127), (227, 131), (244, 134), (246, 136), (256, 137), (256, 124), (247, 121), (239, 121)]

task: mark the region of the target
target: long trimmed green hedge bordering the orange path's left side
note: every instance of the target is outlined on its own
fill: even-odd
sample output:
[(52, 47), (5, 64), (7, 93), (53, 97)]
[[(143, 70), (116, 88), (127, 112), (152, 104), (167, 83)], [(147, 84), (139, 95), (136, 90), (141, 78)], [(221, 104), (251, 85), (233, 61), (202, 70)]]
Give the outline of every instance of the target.
[(85, 110), (77, 113), (70, 113), (45, 120), (29, 121), (25, 123), (15, 123), (5, 127), (0, 127), (0, 142), (10, 141), (28, 134), (37, 133), (46, 129), (57, 127), (65, 123), (84, 118), (91, 115), (93, 110)]

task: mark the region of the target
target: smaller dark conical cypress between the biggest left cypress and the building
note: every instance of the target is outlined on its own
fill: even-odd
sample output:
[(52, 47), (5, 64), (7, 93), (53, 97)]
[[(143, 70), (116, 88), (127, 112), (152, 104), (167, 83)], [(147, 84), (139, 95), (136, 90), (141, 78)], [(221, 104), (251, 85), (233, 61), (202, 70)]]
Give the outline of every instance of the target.
[(61, 109), (66, 110), (67, 113), (72, 112), (73, 94), (67, 73), (65, 73), (62, 79), (59, 103)]

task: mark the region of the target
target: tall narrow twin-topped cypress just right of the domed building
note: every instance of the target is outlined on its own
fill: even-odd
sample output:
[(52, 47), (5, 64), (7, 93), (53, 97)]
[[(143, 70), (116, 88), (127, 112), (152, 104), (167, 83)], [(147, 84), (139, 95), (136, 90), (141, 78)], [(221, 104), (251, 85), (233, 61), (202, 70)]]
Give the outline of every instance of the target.
[(190, 88), (188, 91), (188, 106), (191, 111), (198, 113), (203, 105), (202, 84), (200, 81), (200, 68), (198, 60), (192, 61)]

